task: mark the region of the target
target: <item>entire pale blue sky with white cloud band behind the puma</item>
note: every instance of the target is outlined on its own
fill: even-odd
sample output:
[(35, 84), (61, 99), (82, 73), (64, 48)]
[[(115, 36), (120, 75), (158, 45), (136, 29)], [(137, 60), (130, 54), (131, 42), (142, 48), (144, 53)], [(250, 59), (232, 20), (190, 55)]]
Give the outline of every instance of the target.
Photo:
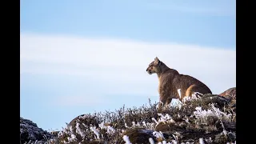
[(158, 101), (155, 56), (221, 93), (235, 86), (235, 15), (230, 0), (22, 0), (21, 116), (60, 130)]

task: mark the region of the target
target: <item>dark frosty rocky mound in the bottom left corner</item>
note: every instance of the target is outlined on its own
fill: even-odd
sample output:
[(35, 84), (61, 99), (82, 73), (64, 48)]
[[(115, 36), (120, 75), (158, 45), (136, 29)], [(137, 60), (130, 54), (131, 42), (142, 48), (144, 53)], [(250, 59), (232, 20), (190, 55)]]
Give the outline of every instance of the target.
[(20, 117), (21, 144), (24, 144), (25, 142), (45, 143), (50, 138), (54, 138), (54, 135), (48, 133), (46, 130), (42, 130), (42, 128), (38, 128), (36, 123)]

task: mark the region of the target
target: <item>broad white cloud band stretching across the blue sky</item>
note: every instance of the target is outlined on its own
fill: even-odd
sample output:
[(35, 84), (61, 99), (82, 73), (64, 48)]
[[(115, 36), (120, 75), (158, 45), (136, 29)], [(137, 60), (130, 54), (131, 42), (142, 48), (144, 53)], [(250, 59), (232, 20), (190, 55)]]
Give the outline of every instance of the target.
[(21, 74), (88, 78), (103, 83), (102, 94), (158, 94), (157, 76), (146, 73), (156, 56), (181, 74), (205, 82), (215, 94), (235, 86), (235, 50), (41, 34), (21, 34), (20, 40)]

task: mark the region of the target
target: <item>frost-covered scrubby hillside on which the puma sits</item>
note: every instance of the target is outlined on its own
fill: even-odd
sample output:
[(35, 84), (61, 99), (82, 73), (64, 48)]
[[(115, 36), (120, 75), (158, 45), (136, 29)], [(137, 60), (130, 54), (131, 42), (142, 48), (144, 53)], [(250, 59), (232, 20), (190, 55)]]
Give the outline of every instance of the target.
[(115, 111), (82, 114), (74, 118), (54, 143), (234, 143), (236, 127), (234, 101), (213, 94), (185, 102), (181, 107), (166, 106), (158, 110), (158, 103)]

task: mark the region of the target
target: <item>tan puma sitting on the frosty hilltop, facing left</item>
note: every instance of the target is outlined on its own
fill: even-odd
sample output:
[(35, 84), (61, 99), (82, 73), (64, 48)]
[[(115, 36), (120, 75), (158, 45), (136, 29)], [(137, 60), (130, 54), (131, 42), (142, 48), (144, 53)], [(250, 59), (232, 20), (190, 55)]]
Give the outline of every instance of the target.
[(181, 89), (181, 98), (191, 96), (194, 92), (212, 94), (211, 90), (198, 79), (189, 75), (179, 74), (177, 70), (170, 69), (158, 58), (154, 58), (146, 69), (148, 74), (158, 74), (158, 93), (160, 102), (169, 104), (172, 98), (180, 98), (178, 89)]

